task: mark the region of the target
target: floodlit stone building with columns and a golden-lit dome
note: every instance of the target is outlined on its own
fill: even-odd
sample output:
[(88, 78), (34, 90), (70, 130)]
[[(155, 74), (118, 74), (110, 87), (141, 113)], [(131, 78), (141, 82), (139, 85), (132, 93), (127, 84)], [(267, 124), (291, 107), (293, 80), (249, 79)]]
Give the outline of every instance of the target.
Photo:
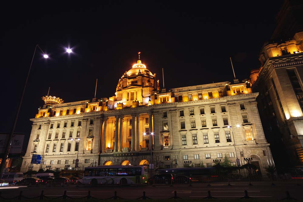
[[(77, 155), (79, 169), (150, 163), (155, 168), (183, 167), (184, 161), (211, 167), (226, 155), (233, 165), (237, 157), (241, 165), (244, 157), (252, 157), (264, 173), (273, 159), (257, 96), (248, 82), (160, 90), (156, 75), (139, 58), (109, 99), (63, 103), (43, 97), (45, 105), (31, 119), (22, 171), (74, 169)], [(42, 155), (41, 165), (31, 164), (32, 154)]]

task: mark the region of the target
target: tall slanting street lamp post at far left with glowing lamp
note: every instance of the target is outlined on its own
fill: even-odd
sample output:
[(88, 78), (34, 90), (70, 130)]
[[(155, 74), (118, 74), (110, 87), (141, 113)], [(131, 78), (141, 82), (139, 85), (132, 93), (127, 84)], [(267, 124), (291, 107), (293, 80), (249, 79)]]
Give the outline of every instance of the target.
[(13, 123), (12, 130), (11, 130), (9, 136), (8, 136), (8, 142), (7, 142), (7, 144), (5, 144), (4, 156), (3, 156), (3, 159), (2, 159), (1, 165), (0, 165), (0, 174), (1, 174), (2, 171), (3, 171), (4, 165), (5, 165), (5, 161), (6, 161), (7, 158), (8, 158), (9, 149), (10, 149), (11, 144), (12, 144), (12, 137), (13, 137), (13, 134), (14, 134), (14, 132), (15, 132), (15, 127), (16, 127), (16, 124), (17, 124), (17, 120), (18, 120), (20, 108), (21, 108), (21, 105), (22, 105), (22, 100), (23, 100), (23, 96), (24, 96), (26, 84), (27, 84), (27, 81), (28, 81), (29, 73), (31, 72), (31, 68), (32, 68), (32, 64), (33, 64), (33, 61), (34, 61), (34, 57), (35, 57), (35, 53), (36, 53), (37, 47), (38, 47), (38, 48), (40, 49), (40, 51), (43, 53), (43, 57), (44, 57), (44, 58), (48, 58), (48, 55), (46, 55), (46, 54), (42, 51), (42, 49), (39, 47), (39, 45), (37, 44), (37, 45), (35, 46), (35, 51), (34, 51), (34, 54), (33, 54), (33, 57), (32, 57), (32, 62), (31, 62), (31, 65), (29, 66), (29, 70), (28, 70), (28, 73), (27, 73), (27, 77), (26, 77), (26, 80), (25, 80), (24, 87), (23, 87), (22, 95), (21, 95), (21, 98), (20, 98), (20, 101), (19, 101), (19, 104), (18, 104), (17, 113), (16, 113), (16, 116), (15, 116), (15, 121), (14, 121), (14, 123)]

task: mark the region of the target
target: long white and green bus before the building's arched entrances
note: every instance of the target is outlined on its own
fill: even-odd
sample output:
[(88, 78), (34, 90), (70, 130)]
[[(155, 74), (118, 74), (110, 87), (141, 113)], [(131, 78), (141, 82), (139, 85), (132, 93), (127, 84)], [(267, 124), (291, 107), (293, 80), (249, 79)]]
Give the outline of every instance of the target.
[(118, 165), (86, 167), (82, 184), (145, 184), (146, 166)]

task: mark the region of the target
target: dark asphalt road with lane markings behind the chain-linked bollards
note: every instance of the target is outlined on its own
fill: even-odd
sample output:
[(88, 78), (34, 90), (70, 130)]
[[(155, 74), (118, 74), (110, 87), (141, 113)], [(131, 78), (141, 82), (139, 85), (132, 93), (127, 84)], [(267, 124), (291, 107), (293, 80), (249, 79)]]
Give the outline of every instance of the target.
[(211, 196), (216, 198), (240, 198), (244, 196), (244, 190), (248, 190), (248, 196), (253, 198), (270, 198), (283, 199), (286, 197), (286, 191), (289, 191), (291, 197), (302, 200), (302, 186), (298, 186), (294, 182), (275, 182), (276, 186), (272, 186), (271, 182), (252, 182), (253, 186), (248, 186), (247, 182), (231, 183), (214, 183), (211, 186), (208, 184), (193, 184), (189, 185), (149, 185), (142, 186), (52, 186), (52, 187), (0, 187), (2, 197), (12, 198), (18, 196), (20, 191), (25, 197), (36, 197), (44, 190), (44, 195), (48, 197), (62, 196), (64, 190), (67, 191), (67, 196), (79, 198), (91, 195), (95, 198), (106, 199), (114, 196), (117, 191), (117, 196), (123, 199), (136, 199), (142, 197), (143, 191), (146, 196), (152, 199), (167, 199), (174, 196), (174, 191), (177, 191), (177, 196), (182, 199), (199, 199), (208, 196), (208, 190), (211, 191)]

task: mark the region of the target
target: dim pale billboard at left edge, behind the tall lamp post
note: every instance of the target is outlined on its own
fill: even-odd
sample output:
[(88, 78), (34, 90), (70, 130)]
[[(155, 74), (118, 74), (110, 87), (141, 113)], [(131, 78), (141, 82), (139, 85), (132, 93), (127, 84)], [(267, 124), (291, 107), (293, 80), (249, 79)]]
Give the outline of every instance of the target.
[[(5, 151), (5, 146), (8, 141), (8, 133), (0, 133), (0, 154), (3, 154)], [(12, 144), (9, 149), (9, 154), (20, 154), (22, 150), (24, 140), (24, 134), (14, 134), (12, 138)]]

